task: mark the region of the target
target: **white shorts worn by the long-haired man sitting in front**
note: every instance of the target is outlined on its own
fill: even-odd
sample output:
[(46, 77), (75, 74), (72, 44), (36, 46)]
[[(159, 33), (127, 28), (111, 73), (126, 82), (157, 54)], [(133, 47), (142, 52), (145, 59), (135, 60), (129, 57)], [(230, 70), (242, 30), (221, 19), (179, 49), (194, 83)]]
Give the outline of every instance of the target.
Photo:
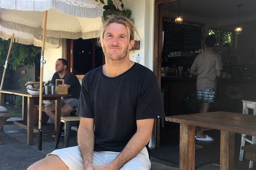
[[(95, 167), (106, 165), (113, 161), (118, 154), (120, 154), (120, 152), (94, 151), (92, 156), (92, 164)], [(50, 155), (57, 155), (69, 167), (70, 170), (83, 170), (83, 160), (78, 146), (54, 150), (52, 153), (47, 154), (46, 157)], [(120, 170), (149, 170), (150, 167), (151, 163), (147, 148), (144, 147), (137, 156), (128, 161)]]

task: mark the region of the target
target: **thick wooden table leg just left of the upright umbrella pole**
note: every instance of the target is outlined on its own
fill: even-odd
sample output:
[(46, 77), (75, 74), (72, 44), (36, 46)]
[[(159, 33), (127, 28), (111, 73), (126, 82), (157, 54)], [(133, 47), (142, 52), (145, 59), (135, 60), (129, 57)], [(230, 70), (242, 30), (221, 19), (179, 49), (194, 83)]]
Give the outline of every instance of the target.
[(34, 144), (34, 98), (28, 97), (28, 104), (27, 104), (27, 144), (33, 145)]

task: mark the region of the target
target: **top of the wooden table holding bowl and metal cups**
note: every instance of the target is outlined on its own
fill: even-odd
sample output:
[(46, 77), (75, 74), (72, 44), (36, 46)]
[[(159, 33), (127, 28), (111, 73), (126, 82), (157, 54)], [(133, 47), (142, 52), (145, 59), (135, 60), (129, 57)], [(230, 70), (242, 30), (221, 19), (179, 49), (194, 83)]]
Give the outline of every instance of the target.
[[(39, 94), (29, 94), (26, 90), (0, 90), (0, 93), (15, 94), (26, 97), (39, 97)], [(71, 96), (71, 94), (43, 94), (42, 97)]]

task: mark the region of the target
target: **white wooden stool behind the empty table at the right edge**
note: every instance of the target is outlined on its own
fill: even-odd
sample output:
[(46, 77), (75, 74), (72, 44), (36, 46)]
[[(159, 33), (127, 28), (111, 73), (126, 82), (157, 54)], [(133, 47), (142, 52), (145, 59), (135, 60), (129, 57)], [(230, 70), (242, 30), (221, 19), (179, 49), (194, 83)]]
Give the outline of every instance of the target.
[[(256, 101), (254, 100), (242, 100), (243, 102), (243, 114), (248, 114), (248, 108), (253, 109), (253, 115), (256, 115)], [(256, 136), (252, 136), (252, 138), (248, 138), (246, 134), (242, 134), (241, 136), (241, 149), (239, 155), (239, 161), (243, 160), (243, 149), (242, 147), (245, 145), (245, 141), (255, 144), (256, 143)], [(253, 167), (253, 160), (250, 160), (249, 168)]]

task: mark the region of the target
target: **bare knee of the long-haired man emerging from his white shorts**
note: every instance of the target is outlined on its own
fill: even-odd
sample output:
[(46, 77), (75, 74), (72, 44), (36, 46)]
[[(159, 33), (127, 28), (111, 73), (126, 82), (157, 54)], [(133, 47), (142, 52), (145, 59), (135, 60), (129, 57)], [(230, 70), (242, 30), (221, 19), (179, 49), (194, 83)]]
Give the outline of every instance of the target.
[(27, 170), (68, 170), (67, 165), (57, 156), (51, 155), (30, 165)]

